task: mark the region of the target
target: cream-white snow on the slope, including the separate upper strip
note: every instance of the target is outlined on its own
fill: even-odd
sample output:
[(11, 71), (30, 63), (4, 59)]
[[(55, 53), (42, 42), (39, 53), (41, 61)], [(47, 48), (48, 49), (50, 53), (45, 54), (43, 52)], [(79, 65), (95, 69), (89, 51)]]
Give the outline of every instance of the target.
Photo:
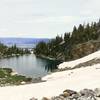
[[(59, 68), (74, 67), (96, 58), (100, 58), (100, 51), (75, 61), (62, 63)], [(55, 72), (43, 77), (42, 80), (46, 82), (0, 87), (0, 100), (30, 100), (32, 97), (41, 100), (42, 97), (57, 96), (66, 89), (79, 91), (84, 88), (100, 88), (100, 64)]]

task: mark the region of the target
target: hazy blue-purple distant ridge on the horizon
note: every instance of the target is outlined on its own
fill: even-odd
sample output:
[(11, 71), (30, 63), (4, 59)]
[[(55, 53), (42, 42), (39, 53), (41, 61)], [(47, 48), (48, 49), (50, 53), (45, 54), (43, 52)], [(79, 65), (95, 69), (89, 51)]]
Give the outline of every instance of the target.
[(12, 46), (16, 44), (18, 47), (21, 47), (22, 45), (24, 45), (24, 47), (32, 46), (32, 45), (35, 46), (40, 41), (48, 42), (49, 39), (48, 38), (13, 38), (13, 37), (0, 38), (1, 43), (7, 46)]

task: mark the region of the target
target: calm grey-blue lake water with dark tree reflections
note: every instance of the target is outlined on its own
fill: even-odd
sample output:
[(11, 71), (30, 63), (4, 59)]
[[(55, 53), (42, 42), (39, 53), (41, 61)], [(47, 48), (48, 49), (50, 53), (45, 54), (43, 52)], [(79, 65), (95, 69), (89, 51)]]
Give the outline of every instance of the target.
[(0, 59), (0, 66), (12, 68), (18, 74), (28, 77), (42, 77), (57, 69), (58, 61), (36, 57), (34, 54)]

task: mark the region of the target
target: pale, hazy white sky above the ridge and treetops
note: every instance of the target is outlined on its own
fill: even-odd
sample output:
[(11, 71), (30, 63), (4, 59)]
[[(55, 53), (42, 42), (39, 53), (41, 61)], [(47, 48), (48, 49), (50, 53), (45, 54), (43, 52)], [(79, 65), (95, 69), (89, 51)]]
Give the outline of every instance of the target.
[(53, 38), (99, 18), (100, 0), (0, 0), (0, 37)]

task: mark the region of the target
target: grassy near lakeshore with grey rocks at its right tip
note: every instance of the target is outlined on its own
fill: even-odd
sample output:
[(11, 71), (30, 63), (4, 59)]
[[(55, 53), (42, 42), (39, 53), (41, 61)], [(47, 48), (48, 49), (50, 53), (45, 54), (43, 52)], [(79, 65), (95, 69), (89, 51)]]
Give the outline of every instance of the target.
[(32, 83), (45, 82), (41, 77), (31, 78), (19, 75), (16, 71), (10, 68), (0, 68), (0, 87), (25, 85)]

